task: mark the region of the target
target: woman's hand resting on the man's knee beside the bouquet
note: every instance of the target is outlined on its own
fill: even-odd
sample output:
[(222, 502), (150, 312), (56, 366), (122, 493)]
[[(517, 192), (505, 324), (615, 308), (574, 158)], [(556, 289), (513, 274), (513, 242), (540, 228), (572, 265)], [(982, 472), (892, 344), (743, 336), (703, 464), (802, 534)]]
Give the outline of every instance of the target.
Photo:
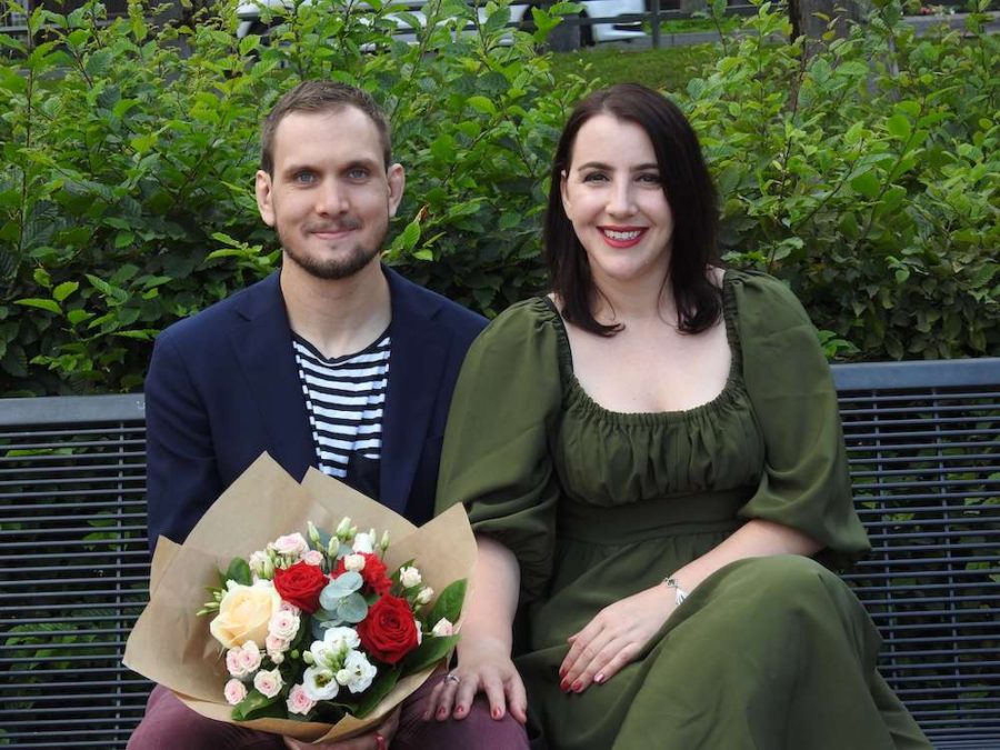
[(509, 710), (521, 723), (528, 720), (528, 697), (510, 660), (510, 647), (493, 638), (462, 640), (458, 667), (434, 687), (423, 718), (464, 719), (480, 691), (486, 693), (493, 719), (502, 719)]

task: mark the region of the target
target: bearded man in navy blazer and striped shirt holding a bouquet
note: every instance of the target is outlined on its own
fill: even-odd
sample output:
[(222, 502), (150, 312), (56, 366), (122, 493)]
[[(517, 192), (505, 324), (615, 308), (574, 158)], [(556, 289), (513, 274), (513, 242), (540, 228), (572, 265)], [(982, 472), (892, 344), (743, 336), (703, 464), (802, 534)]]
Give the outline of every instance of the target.
[[(306, 81), (267, 118), (257, 202), (281, 270), (157, 340), (146, 380), (151, 548), (159, 534), (183, 541), (264, 450), (297, 479), (316, 466), (414, 523), (430, 518), (451, 392), (484, 321), (380, 264), (404, 182), (363, 91)], [(424, 721), (441, 679), (374, 732), (309, 747), (527, 748), (521, 726), (486, 703), (464, 721)], [(300, 744), (203, 719), (159, 687), (129, 743), (284, 747)]]

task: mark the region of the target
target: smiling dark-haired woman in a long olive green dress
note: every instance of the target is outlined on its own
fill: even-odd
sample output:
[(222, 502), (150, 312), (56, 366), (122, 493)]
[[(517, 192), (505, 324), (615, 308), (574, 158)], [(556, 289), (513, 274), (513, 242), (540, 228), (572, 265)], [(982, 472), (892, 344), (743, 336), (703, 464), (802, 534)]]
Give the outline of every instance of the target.
[(816, 332), (777, 280), (720, 269), (716, 231), (673, 104), (577, 107), (553, 293), (493, 321), (451, 407), (438, 501), (468, 506), (480, 564), (439, 719), (484, 691), (560, 750), (929, 747), (809, 558), (868, 549)]

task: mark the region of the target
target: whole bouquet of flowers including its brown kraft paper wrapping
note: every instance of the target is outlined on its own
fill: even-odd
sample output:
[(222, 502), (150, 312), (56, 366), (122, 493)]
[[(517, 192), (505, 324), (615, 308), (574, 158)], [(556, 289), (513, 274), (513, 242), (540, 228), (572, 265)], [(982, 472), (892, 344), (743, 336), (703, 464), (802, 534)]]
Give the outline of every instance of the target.
[(262, 454), (183, 544), (159, 539), (122, 661), (210, 719), (347, 739), (448, 658), (474, 561), (460, 506), (418, 529), (314, 469), (299, 483)]

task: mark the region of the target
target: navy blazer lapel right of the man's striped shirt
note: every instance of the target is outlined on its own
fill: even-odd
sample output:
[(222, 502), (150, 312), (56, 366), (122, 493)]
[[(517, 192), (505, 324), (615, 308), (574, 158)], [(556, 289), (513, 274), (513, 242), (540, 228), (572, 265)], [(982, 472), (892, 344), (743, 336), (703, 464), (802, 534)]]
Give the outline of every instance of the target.
[(404, 513), (413, 474), (423, 451), (450, 331), (434, 323), (438, 306), (418, 294), (390, 269), (383, 269), (392, 299), (389, 387), (382, 413), (381, 502)]

